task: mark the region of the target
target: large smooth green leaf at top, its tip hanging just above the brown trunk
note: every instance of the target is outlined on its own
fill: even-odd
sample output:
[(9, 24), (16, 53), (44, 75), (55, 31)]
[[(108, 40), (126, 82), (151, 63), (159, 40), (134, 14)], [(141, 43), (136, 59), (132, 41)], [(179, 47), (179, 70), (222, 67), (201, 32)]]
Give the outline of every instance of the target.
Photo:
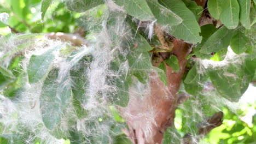
[(202, 37), (199, 35), (200, 27), (195, 19), (194, 14), (179, 0), (159, 0), (159, 3), (173, 11), (182, 18), (182, 23), (170, 28), (170, 33), (188, 43), (200, 43)]

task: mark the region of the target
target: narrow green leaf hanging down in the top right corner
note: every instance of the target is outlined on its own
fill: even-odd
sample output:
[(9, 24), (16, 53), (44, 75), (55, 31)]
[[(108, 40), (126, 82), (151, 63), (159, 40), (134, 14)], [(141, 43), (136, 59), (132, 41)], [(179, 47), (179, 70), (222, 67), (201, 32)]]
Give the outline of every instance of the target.
[(251, 9), (251, 0), (238, 0), (240, 5), (240, 22), (246, 29), (251, 28), (250, 22), (250, 9)]

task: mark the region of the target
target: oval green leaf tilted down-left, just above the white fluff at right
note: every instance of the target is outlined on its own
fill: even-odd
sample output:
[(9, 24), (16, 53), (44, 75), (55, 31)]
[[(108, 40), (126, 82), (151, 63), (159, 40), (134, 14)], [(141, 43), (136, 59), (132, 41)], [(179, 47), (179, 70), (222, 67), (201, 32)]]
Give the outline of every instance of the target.
[(212, 53), (218, 52), (222, 49), (227, 49), (230, 43), (230, 40), (233, 35), (233, 30), (226, 27), (218, 29), (214, 34), (210, 36), (203, 44), (200, 52), (202, 53)]

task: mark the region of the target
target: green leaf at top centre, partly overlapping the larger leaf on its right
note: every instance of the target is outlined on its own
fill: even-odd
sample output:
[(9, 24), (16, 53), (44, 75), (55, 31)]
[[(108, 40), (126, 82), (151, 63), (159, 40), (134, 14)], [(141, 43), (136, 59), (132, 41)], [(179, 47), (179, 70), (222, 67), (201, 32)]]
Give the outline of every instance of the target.
[(174, 14), (170, 9), (160, 5), (156, 0), (147, 0), (148, 6), (161, 25), (175, 26), (182, 22), (181, 17)]

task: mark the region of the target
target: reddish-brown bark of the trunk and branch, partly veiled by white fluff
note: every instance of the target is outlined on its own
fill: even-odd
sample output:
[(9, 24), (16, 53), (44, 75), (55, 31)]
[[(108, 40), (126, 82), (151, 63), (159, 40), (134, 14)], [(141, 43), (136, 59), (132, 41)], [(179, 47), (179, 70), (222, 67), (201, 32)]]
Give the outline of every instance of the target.
[[(195, 2), (197, 5), (201, 5), (205, 8), (200, 17), (199, 25), (214, 24), (215, 20), (211, 17), (206, 8), (207, 0), (195, 0)], [(157, 28), (161, 29), (160, 27)], [(171, 39), (171, 37), (166, 41), (166, 37), (162, 37), (161, 34), (166, 33), (158, 32), (156, 34), (157, 37), (161, 39), (161, 48), (172, 51), (155, 53), (158, 57), (153, 57), (153, 65), (157, 67), (168, 56), (175, 55), (179, 60), (180, 70), (178, 73), (175, 73), (173, 69), (165, 63), (167, 86), (159, 79), (158, 74), (152, 73), (150, 75), (150, 89), (148, 94), (145, 94), (143, 99), (139, 98), (136, 93), (131, 94), (128, 106), (120, 109), (129, 127), (129, 130), (124, 129), (123, 131), (129, 139), (136, 144), (160, 144), (166, 129), (170, 126), (174, 127), (173, 121), (177, 106), (185, 99), (189, 98), (178, 97), (177, 93), (187, 63), (185, 56), (191, 52), (191, 44), (176, 38)], [(167, 46), (173, 46), (173, 48)], [(200, 134), (207, 134), (211, 129), (218, 127), (221, 124), (221, 120), (217, 119), (216, 121), (219, 123), (211, 125), (210, 127), (204, 127), (207, 129), (200, 129)]]

